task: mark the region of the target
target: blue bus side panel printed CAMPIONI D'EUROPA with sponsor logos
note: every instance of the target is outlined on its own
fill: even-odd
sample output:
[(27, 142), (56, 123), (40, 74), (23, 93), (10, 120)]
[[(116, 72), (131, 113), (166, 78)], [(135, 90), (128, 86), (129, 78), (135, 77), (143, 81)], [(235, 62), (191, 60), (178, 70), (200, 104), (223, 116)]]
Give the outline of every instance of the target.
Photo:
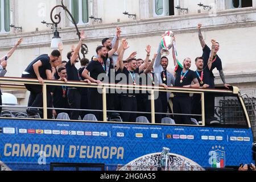
[(13, 170), (49, 170), (50, 163), (104, 163), (115, 170), (138, 158), (161, 166), (163, 147), (182, 164), (238, 166), (254, 162), (252, 142), (251, 129), (0, 120), (0, 161)]

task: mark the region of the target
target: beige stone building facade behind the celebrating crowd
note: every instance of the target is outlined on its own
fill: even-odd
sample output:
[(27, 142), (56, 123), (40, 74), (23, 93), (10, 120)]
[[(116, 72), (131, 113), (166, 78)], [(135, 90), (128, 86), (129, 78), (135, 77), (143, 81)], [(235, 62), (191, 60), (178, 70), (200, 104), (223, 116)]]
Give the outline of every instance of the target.
[[(20, 77), (27, 65), (43, 53), (50, 53), (53, 31), (41, 23), (50, 19), (51, 9), (60, 5), (60, 0), (0, 0), (1, 31), (0, 54), (4, 56), (19, 37), (23, 43), (8, 61), (8, 77)], [(202, 4), (205, 6), (199, 6)], [(220, 42), (218, 55), (222, 59), (226, 81), (241, 88), (242, 93), (256, 96), (256, 0), (64, 0), (64, 5), (75, 16), (79, 29), (84, 30), (89, 47), (86, 57), (95, 54), (102, 38), (113, 38), (115, 27), (122, 28), (122, 37), (129, 41), (130, 49), (137, 57), (144, 59), (144, 49), (148, 44), (156, 52), (160, 36), (166, 30), (176, 35), (179, 59), (201, 56), (201, 46), (197, 34), (197, 23), (203, 24), (205, 42), (210, 44), (214, 38)], [(181, 9), (177, 9), (180, 7)], [(210, 7), (210, 8), (209, 8)], [(76, 30), (61, 8), (60, 36), (64, 44), (65, 55), (72, 44), (78, 42)], [(123, 12), (136, 14), (136, 19), (129, 18)], [(183, 12), (181, 12), (183, 11)], [(101, 18), (94, 22), (89, 16)], [(10, 27), (22, 27), (22, 32)], [(170, 57), (172, 60), (172, 58)], [(172, 70), (172, 61), (169, 69)], [(192, 69), (195, 69), (193, 64)], [(221, 79), (216, 72), (216, 83)], [(9, 92), (16, 89), (2, 86)], [(25, 89), (12, 92), (18, 97), (19, 104), (26, 105)]]

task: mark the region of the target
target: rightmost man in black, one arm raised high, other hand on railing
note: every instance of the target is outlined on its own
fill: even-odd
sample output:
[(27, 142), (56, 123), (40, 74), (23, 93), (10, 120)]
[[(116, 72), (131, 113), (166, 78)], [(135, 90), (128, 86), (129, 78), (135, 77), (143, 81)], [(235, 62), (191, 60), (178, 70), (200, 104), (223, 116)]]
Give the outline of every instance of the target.
[[(206, 66), (208, 64), (211, 50), (204, 41), (203, 35), (201, 33), (201, 26), (202, 26), (202, 24), (198, 24), (197, 27), (198, 27), (198, 31), (199, 31), (199, 40), (200, 40), (201, 46), (203, 48), (203, 56), (202, 57), (204, 59), (204, 65)], [(231, 86), (231, 85), (226, 84), (225, 76), (224, 76), (224, 73), (222, 70), (222, 62), (221, 62), (220, 57), (218, 57), (218, 55), (217, 55), (217, 52), (219, 51), (219, 49), (220, 49), (220, 44), (218, 42), (216, 42), (214, 55), (213, 55), (213, 61), (212, 61), (212, 67), (210, 68), (210, 83), (209, 83), (210, 86), (209, 86), (209, 88), (211, 88), (211, 89), (215, 88), (215, 84), (214, 84), (215, 77), (214, 77), (212, 71), (213, 71), (213, 69), (217, 68), (218, 71), (220, 72), (220, 77), (224, 83), (224, 86), (229, 89), (229, 86)]]

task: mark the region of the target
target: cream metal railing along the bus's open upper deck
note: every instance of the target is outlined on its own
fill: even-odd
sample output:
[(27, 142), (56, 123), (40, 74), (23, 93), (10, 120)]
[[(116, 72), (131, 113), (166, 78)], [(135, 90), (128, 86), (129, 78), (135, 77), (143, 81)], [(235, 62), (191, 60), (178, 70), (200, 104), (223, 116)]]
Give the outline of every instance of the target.
[[(193, 93), (193, 94), (201, 94), (202, 97), (202, 119), (204, 123), (204, 94), (205, 93), (233, 93), (238, 94), (239, 89), (234, 87), (233, 90), (224, 90), (224, 89), (193, 89), (193, 88), (179, 88), (179, 87), (169, 87), (168, 89), (164, 89), (159, 86), (145, 86), (145, 85), (125, 85), (125, 84), (105, 84), (102, 83), (100, 85), (97, 84), (86, 84), (85, 82), (79, 81), (57, 81), (57, 80), (44, 80), (44, 84), (40, 84), (36, 79), (24, 79), (24, 78), (14, 78), (14, 77), (3, 77), (0, 78), (1, 84), (11, 84), (12, 86), (24, 86), (24, 84), (32, 84), (32, 85), (42, 85), (43, 86), (43, 119), (47, 119), (47, 86), (69, 86), (69, 87), (78, 87), (78, 88), (97, 88), (102, 90), (102, 110), (103, 111), (103, 121), (107, 121), (107, 112), (111, 112), (107, 110), (106, 107), (106, 93), (108, 89), (119, 89), (119, 90), (143, 90), (151, 93), (151, 123), (155, 123), (155, 103), (154, 103), (154, 95), (155, 92), (171, 92), (171, 93)], [(10, 85), (9, 85), (10, 86)], [(125, 112), (125, 111), (123, 111)], [(193, 114), (191, 114), (193, 115)]]

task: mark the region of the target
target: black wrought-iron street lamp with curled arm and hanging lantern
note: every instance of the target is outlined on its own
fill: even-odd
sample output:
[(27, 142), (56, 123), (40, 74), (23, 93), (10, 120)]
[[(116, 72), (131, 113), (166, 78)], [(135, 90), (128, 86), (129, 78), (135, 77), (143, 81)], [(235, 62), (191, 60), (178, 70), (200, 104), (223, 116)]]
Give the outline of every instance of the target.
[[(72, 14), (67, 9), (67, 6), (64, 5), (63, 0), (61, 0), (61, 5), (57, 5), (57, 6), (53, 7), (51, 10), (51, 20), (52, 20), (52, 23), (55, 24), (55, 32), (54, 32), (54, 36), (52, 38), (52, 43), (57, 43), (57, 42), (59, 43), (59, 40), (60, 40), (59, 32), (57, 31), (57, 24), (59, 24), (61, 22), (61, 16), (60, 16), (61, 12), (59, 14), (55, 14), (53, 16), (53, 11), (55, 9), (57, 9), (58, 7), (61, 7), (65, 11), (65, 13), (66, 14), (68, 13), (68, 15), (71, 17), (72, 23), (76, 27), (77, 36), (80, 39), (81, 38), (80, 31), (79, 31), (79, 28), (77, 27), (76, 20), (75, 20), (75, 18), (73, 18)], [(82, 44), (81, 53), (82, 53), (82, 56), (85, 58), (85, 55), (88, 53), (88, 47), (86, 46), (86, 44)], [(79, 55), (79, 59), (81, 60), (80, 55)]]

